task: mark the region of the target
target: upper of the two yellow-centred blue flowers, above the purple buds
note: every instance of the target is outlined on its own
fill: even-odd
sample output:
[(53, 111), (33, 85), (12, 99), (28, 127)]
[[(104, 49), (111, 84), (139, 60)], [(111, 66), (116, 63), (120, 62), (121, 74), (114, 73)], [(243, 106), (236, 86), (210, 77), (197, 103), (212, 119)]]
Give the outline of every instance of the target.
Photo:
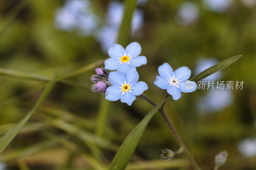
[(126, 73), (131, 67), (139, 67), (147, 63), (145, 56), (138, 56), (141, 47), (138, 42), (132, 42), (125, 49), (120, 44), (114, 44), (108, 48), (108, 55), (111, 58), (105, 60), (105, 69), (121, 71)]

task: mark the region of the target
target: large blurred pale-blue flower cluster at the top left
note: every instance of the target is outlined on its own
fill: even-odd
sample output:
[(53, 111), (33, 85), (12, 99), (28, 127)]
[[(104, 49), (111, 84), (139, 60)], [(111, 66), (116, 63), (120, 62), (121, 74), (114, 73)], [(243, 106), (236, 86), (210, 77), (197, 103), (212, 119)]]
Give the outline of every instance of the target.
[(56, 27), (65, 31), (77, 30), (81, 35), (92, 34), (98, 27), (99, 20), (91, 8), (88, 0), (66, 1), (64, 7), (56, 11)]

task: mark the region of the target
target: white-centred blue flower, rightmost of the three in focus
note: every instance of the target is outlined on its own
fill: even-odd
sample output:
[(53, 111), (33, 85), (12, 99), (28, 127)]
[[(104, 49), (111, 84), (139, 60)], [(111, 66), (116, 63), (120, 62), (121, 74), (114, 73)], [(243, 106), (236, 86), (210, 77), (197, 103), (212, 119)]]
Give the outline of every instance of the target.
[(183, 66), (173, 71), (168, 63), (164, 63), (158, 67), (158, 73), (160, 76), (156, 76), (154, 84), (161, 89), (167, 89), (173, 100), (180, 99), (181, 92), (196, 90), (196, 82), (188, 80), (191, 75), (191, 70), (188, 67)]

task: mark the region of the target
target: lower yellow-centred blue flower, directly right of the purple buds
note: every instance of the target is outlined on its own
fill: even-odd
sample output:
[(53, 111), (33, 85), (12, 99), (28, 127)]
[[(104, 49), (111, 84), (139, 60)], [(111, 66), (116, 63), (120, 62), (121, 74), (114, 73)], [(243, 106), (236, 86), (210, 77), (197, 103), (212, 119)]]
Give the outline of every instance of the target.
[(113, 86), (107, 88), (105, 98), (110, 101), (121, 99), (121, 102), (131, 106), (136, 99), (135, 96), (141, 95), (145, 90), (148, 90), (148, 85), (143, 81), (137, 82), (138, 79), (139, 74), (135, 67), (127, 70), (125, 75), (120, 71), (110, 72), (108, 81)]

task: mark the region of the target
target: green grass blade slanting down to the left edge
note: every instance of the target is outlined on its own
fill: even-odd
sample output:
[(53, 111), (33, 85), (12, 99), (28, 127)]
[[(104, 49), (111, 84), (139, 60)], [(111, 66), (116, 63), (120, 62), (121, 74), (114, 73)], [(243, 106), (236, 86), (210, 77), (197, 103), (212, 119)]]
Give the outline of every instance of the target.
[(31, 115), (36, 111), (37, 107), (44, 101), (44, 99), (49, 95), (53, 86), (56, 83), (56, 78), (54, 77), (45, 87), (44, 92), (36, 102), (32, 110), (26, 115), (20, 122), (18, 122), (12, 129), (10, 129), (1, 139), (0, 139), (0, 153), (3, 152), (4, 148), (12, 141), (12, 139), (20, 132), (23, 126), (26, 124)]

